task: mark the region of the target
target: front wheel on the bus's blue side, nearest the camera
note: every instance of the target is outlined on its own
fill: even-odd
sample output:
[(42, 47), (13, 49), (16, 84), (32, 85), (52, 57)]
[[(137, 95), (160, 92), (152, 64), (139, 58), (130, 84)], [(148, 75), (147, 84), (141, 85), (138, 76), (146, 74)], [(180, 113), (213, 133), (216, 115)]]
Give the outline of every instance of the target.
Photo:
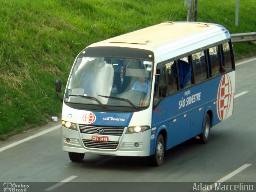
[(156, 152), (149, 157), (150, 165), (160, 166), (164, 162), (164, 138), (162, 134), (159, 134), (156, 141)]

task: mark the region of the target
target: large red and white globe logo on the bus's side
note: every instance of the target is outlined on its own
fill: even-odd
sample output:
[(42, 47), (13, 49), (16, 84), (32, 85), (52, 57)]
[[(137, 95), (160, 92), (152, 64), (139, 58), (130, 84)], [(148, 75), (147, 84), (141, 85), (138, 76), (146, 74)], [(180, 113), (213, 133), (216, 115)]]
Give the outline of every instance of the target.
[(217, 114), (221, 121), (227, 117), (230, 111), (230, 104), (233, 103), (232, 99), (231, 80), (230, 76), (226, 74), (220, 80), (217, 94)]

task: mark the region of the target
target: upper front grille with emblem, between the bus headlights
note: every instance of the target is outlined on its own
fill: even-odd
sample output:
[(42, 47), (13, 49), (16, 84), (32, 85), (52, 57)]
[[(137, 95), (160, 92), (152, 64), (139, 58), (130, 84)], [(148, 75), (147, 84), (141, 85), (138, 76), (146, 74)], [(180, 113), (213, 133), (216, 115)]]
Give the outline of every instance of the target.
[[(97, 135), (120, 136), (124, 132), (124, 127), (88, 126), (88, 125), (79, 124), (79, 128), (81, 133), (97, 134)], [(98, 132), (97, 130), (104, 130), (104, 132)]]

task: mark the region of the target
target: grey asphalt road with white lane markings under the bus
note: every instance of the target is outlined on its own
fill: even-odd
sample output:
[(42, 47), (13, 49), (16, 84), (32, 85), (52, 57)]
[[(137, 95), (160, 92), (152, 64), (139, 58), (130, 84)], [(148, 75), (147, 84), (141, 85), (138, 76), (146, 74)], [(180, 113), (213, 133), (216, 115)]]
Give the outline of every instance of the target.
[(60, 122), (52, 122), (0, 142), (0, 191), (7, 182), (29, 182), (27, 192), (201, 191), (195, 182), (212, 191), (215, 182), (254, 182), (256, 191), (255, 72), (256, 58), (238, 63), (234, 115), (211, 129), (207, 144), (192, 139), (168, 150), (160, 167), (144, 157), (86, 155), (71, 162), (61, 151)]

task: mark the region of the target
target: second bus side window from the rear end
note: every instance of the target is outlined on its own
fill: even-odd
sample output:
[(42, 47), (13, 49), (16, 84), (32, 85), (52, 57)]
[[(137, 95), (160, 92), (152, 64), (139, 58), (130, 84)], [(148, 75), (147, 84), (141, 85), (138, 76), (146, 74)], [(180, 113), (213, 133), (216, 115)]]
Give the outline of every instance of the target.
[(220, 74), (220, 54), (218, 46), (209, 49), (210, 76), (214, 77)]

